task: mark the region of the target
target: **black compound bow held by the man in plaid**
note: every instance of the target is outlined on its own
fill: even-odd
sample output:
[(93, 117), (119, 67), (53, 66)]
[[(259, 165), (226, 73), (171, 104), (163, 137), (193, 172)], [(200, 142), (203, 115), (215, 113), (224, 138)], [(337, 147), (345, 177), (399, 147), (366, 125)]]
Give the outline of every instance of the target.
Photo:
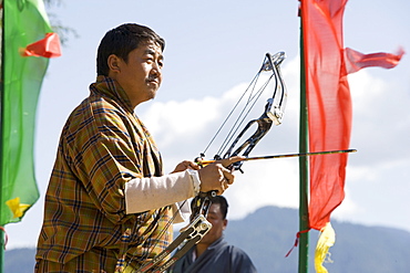
[[(227, 119), (232, 116), (235, 108), (239, 105), (239, 102), (244, 98), (245, 94), (249, 92), (248, 99), (243, 108), (239, 117), (235, 122), (234, 127), (230, 129), (228, 136), (225, 138), (219, 151), (215, 155), (215, 159), (228, 158), (232, 156), (244, 156), (248, 157), (249, 153), (255, 148), (256, 144), (267, 134), (271, 125), (281, 124), (281, 119), (285, 112), (287, 92), (284, 80), (280, 74), (279, 65), (285, 60), (285, 53), (278, 52), (275, 55), (266, 53), (263, 65), (254, 80), (250, 82), (249, 86), (246, 88), (245, 93), (242, 95), (239, 101), (234, 106), (228, 117), (225, 119), (223, 125), (219, 127), (215, 136), (212, 138), (211, 143), (206, 147), (205, 151), (208, 149), (211, 144), (214, 141), (215, 137), (219, 134), (222, 127), (226, 124)], [(260, 84), (262, 75), (266, 76), (266, 81)], [(267, 74), (267, 75), (266, 75)], [(264, 77), (264, 76), (262, 76)], [(236, 132), (239, 129), (245, 118), (247, 117), (250, 108), (255, 105), (256, 101), (260, 97), (262, 93), (268, 87), (273, 86), (274, 94), (267, 99), (264, 113), (259, 118), (248, 122), (244, 129), (237, 135), (237, 137), (232, 141), (228, 147), (228, 143), (233, 139)], [(239, 119), (242, 119), (239, 122)], [(254, 125), (257, 124), (257, 130), (247, 138), (240, 146), (236, 149), (237, 143), (242, 139), (245, 133)], [(228, 147), (228, 148), (227, 148)], [(227, 148), (227, 149), (226, 149)], [(226, 149), (226, 151), (223, 151)], [(235, 150), (234, 150), (235, 149)], [(201, 154), (201, 157), (205, 157), (205, 151)], [(223, 154), (223, 156), (221, 156)], [(243, 161), (236, 162), (232, 166), (235, 170), (242, 171)], [(216, 192), (199, 192), (193, 204), (193, 213), (191, 217), (191, 222), (187, 227), (181, 230), (180, 235), (158, 255), (153, 260), (143, 264), (135, 272), (164, 272), (171, 265), (173, 265), (180, 258), (182, 258), (192, 246), (194, 246), (201, 239), (211, 230), (212, 224), (206, 220), (208, 209), (211, 207), (211, 197), (215, 196)], [(176, 250), (176, 251), (175, 251)], [(165, 263), (163, 261), (171, 255)]]

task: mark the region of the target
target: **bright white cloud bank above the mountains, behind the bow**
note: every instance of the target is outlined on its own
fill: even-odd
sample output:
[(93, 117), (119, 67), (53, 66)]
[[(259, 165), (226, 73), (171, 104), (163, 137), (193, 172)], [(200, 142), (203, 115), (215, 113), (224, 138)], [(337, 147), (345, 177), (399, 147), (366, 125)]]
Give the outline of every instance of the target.
[[(284, 63), (283, 74), (288, 87), (288, 105), (284, 123), (273, 127), (253, 151), (253, 155), (296, 153), (298, 149), (298, 115), (299, 115), (299, 60), (287, 60)], [(372, 211), (375, 199), (382, 198), (377, 185), (385, 177), (394, 177), (391, 174), (400, 172), (403, 166), (410, 166), (408, 157), (396, 157), (407, 144), (410, 126), (409, 118), (402, 118), (391, 123), (393, 112), (403, 114), (406, 109), (398, 109), (386, 99), (389, 85), (380, 78), (376, 78), (366, 71), (360, 71), (349, 76), (350, 90), (353, 103), (353, 130), (352, 146), (358, 148), (357, 154), (351, 154), (346, 180), (346, 198), (338, 207), (334, 217), (339, 220), (362, 222), (369, 224), (385, 223), (380, 218), (389, 217), (391, 209)], [(165, 158), (165, 166), (170, 162), (197, 156), (205, 144), (209, 140), (223, 117), (235, 104), (237, 97), (245, 91), (247, 84), (238, 84), (219, 96), (207, 96), (203, 99), (188, 99), (185, 102), (153, 103), (144, 113), (143, 120), (158, 141), (158, 146)], [(400, 90), (397, 91), (401, 94)], [(398, 96), (398, 95), (397, 95)], [(263, 99), (264, 101), (264, 99)], [(404, 99), (406, 102), (406, 99)], [(401, 102), (400, 104), (402, 104)], [(257, 116), (262, 109), (257, 109)], [(255, 114), (254, 114), (255, 115)], [(380, 124), (381, 123), (381, 124)], [(404, 133), (404, 135), (403, 135)], [(399, 137), (398, 137), (398, 134)], [(389, 145), (385, 140), (396, 139)], [(391, 141), (391, 140), (390, 140)], [(198, 148), (198, 146), (201, 146)], [(407, 146), (407, 145), (406, 145)], [(396, 148), (392, 148), (396, 147)], [(380, 154), (387, 149), (397, 149), (390, 153), (390, 157)], [(230, 203), (229, 218), (242, 218), (257, 208), (267, 204), (279, 207), (298, 207), (299, 175), (297, 159), (274, 159), (266, 161), (246, 162), (245, 174), (236, 174), (236, 182), (226, 191)], [(400, 172), (402, 174), (402, 171)], [(409, 174), (404, 174), (403, 180), (396, 180), (400, 187)], [(372, 187), (372, 188), (369, 188)], [(369, 192), (372, 192), (369, 197)], [(390, 192), (394, 196), (394, 192)], [(401, 198), (401, 197), (398, 197)], [(409, 204), (407, 199), (402, 200)], [(408, 207), (408, 206), (407, 206)], [(397, 208), (396, 208), (397, 209)], [(400, 213), (400, 208), (397, 209)], [(401, 213), (406, 213), (402, 211)], [(388, 221), (387, 221), (388, 222)], [(396, 224), (397, 225), (397, 224)], [(410, 222), (401, 223), (410, 230)]]

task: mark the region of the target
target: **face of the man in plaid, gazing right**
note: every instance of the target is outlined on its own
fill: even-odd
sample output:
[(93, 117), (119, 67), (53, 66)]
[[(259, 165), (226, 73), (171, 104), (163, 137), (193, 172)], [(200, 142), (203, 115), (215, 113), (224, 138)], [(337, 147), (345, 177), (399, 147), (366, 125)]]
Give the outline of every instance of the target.
[(117, 70), (111, 72), (135, 107), (155, 97), (162, 82), (162, 66), (161, 46), (146, 41), (130, 52), (127, 62), (119, 57)]

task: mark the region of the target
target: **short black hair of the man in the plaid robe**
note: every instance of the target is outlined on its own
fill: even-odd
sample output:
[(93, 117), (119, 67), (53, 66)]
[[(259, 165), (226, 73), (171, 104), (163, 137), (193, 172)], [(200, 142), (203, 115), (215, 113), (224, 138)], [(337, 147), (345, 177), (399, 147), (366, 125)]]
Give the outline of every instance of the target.
[(107, 59), (115, 54), (127, 62), (129, 53), (137, 49), (141, 42), (153, 41), (165, 49), (165, 40), (152, 29), (136, 23), (124, 23), (105, 33), (96, 53), (96, 74), (107, 76), (110, 69)]

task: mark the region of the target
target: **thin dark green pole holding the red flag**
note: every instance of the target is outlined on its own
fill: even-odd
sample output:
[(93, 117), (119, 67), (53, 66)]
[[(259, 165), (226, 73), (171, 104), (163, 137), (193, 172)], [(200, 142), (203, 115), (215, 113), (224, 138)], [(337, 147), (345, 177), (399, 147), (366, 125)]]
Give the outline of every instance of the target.
[[(299, 113), (299, 153), (308, 153), (308, 112), (306, 103), (304, 28), (300, 11), (300, 113)], [(308, 158), (299, 157), (299, 263), (298, 273), (308, 272), (309, 229), (308, 217)]]

